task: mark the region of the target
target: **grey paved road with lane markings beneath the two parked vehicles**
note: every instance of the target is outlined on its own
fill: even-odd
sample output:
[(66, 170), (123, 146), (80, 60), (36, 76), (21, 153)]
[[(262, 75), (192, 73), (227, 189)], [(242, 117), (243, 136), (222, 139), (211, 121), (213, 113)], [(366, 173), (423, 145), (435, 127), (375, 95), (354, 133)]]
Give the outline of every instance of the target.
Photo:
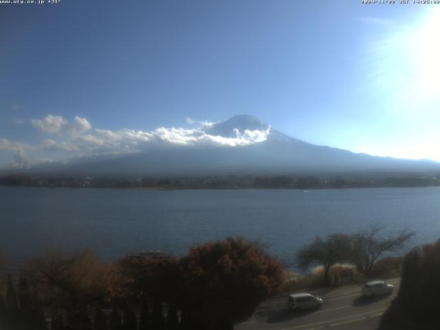
[(344, 285), (327, 292), (311, 292), (324, 301), (320, 309), (292, 312), (287, 309), (287, 297), (263, 303), (247, 322), (236, 325), (237, 330), (373, 330), (391, 300), (397, 295), (399, 278), (388, 280), (395, 285), (393, 294), (364, 298), (362, 285)]

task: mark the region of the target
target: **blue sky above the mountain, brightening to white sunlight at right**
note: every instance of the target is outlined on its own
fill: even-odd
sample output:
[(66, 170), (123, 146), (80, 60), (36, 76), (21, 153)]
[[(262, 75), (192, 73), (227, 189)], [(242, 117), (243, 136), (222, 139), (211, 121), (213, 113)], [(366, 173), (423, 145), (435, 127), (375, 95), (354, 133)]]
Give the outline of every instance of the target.
[(240, 113), (314, 144), (440, 160), (439, 9), (0, 4), (0, 166), (120, 153)]

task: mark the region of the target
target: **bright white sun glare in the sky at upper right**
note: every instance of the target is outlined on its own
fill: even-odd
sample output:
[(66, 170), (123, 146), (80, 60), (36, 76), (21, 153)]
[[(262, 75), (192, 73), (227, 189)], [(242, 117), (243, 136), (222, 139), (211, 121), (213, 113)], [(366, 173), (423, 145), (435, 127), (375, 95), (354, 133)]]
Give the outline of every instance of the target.
[(440, 115), (439, 33), (440, 8), (417, 21), (397, 24), (369, 45), (366, 77), (376, 87), (373, 94), (383, 98), (384, 120)]

